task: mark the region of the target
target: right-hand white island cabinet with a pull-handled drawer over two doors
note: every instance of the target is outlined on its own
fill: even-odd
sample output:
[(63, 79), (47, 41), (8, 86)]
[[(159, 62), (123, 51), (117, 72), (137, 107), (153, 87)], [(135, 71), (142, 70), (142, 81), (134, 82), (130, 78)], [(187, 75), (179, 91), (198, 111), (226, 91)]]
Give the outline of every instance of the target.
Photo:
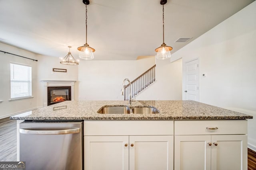
[(247, 170), (247, 121), (175, 121), (175, 170)]

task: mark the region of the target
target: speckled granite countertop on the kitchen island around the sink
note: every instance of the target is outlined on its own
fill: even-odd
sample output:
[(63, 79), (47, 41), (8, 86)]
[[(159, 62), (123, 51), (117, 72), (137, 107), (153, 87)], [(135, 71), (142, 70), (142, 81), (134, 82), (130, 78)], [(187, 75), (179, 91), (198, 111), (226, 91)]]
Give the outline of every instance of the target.
[(217, 120), (252, 119), (236, 111), (195, 101), (135, 101), (130, 107), (156, 107), (157, 114), (100, 114), (102, 106), (127, 106), (128, 101), (65, 101), (10, 117), (13, 120)]

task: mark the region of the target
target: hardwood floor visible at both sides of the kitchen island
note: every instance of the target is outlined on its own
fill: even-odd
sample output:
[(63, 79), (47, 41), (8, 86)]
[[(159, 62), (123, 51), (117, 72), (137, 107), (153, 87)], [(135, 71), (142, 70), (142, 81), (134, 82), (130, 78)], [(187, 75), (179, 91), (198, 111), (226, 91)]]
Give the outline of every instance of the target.
[[(0, 119), (0, 161), (16, 161), (16, 121)], [(256, 170), (256, 152), (248, 149), (248, 170)]]

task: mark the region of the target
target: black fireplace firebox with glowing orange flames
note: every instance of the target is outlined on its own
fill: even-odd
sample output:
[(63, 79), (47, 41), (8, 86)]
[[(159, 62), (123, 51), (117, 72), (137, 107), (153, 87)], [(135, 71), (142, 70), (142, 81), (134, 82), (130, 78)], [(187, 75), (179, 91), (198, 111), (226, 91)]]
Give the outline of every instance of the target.
[(71, 86), (48, 87), (48, 105), (71, 100)]

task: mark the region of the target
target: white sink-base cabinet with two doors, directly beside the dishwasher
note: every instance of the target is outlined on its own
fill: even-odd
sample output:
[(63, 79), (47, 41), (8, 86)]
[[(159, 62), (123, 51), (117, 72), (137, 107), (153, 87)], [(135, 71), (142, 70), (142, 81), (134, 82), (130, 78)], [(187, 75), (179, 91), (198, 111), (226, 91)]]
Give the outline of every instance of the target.
[(84, 169), (172, 170), (173, 131), (173, 121), (85, 121)]

